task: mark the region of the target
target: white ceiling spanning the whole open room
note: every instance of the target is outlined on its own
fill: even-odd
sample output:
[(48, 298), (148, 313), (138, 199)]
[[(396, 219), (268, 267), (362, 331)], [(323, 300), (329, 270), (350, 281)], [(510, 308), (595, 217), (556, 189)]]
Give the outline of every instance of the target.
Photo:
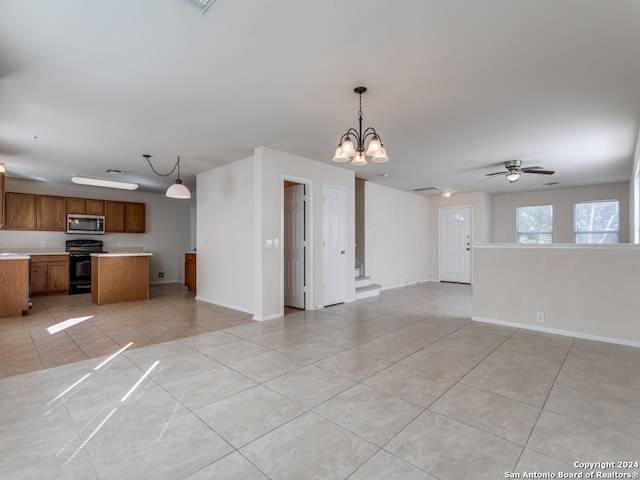
[[(640, 120), (637, 0), (0, 0), (7, 176), (162, 191), (257, 146), (332, 163), (357, 126), (400, 189), (507, 192), (628, 180)], [(519, 158), (556, 174), (509, 186)], [(381, 174), (388, 174), (383, 177)]]

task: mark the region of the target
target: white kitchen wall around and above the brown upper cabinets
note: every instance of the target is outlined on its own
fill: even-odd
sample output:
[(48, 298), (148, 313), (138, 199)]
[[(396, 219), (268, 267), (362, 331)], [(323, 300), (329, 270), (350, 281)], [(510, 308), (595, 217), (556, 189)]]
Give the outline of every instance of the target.
[[(190, 208), (189, 200), (169, 199), (164, 194), (129, 192), (81, 185), (36, 182), (6, 178), (6, 191), (36, 193), (66, 197), (98, 198), (141, 202), (146, 205), (145, 233), (107, 233), (86, 236), (67, 235), (62, 232), (0, 230), (0, 248), (41, 249), (42, 243), (51, 251), (64, 251), (65, 241), (74, 238), (97, 238), (104, 242), (104, 250), (109, 248), (142, 248), (152, 252), (149, 265), (151, 283), (184, 282), (184, 252), (190, 249)], [(164, 273), (160, 279), (159, 272)]]

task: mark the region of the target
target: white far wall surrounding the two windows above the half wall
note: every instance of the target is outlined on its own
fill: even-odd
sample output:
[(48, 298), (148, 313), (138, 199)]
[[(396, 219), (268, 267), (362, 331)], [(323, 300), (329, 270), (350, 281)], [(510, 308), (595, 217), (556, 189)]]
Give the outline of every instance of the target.
[(553, 242), (573, 243), (573, 205), (592, 200), (620, 201), (620, 243), (629, 242), (629, 182), (554, 188), (493, 196), (493, 241), (515, 243), (516, 208), (553, 205)]

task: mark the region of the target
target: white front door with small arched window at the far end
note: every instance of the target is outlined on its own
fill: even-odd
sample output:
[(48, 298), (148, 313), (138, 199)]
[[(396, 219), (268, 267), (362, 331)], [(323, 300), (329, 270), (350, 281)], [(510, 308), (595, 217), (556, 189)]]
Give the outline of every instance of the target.
[(471, 283), (471, 207), (441, 208), (438, 231), (440, 281)]

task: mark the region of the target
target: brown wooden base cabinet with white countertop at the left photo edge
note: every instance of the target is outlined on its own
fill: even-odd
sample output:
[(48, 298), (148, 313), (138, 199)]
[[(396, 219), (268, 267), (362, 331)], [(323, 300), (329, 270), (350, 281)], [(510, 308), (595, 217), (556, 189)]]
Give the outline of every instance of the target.
[(0, 318), (29, 309), (29, 256), (0, 254)]

